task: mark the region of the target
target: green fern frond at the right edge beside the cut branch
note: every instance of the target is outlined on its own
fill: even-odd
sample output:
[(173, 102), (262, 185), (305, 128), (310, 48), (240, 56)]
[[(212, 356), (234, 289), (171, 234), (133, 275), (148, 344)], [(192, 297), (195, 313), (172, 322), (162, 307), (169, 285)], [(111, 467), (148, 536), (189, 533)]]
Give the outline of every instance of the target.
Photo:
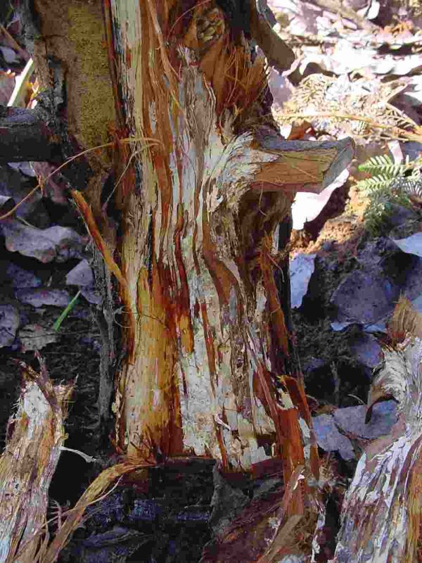
[(410, 207), (409, 197), (422, 189), (422, 157), (402, 164), (394, 163), (388, 155), (373, 156), (359, 165), (361, 172), (371, 175), (357, 182), (357, 189), (369, 199), (364, 219), (372, 236), (385, 234), (391, 228), (391, 217), (397, 205)]

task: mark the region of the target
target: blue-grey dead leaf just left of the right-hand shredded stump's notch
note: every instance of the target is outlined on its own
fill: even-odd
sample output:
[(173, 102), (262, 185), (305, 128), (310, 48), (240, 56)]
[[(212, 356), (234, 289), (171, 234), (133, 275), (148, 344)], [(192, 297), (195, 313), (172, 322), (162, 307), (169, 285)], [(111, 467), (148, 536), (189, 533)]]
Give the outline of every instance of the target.
[(393, 424), (397, 422), (397, 403), (394, 400), (373, 405), (371, 421), (368, 424), (365, 424), (366, 411), (365, 405), (345, 407), (335, 410), (333, 419), (340, 431), (366, 440), (389, 434)]

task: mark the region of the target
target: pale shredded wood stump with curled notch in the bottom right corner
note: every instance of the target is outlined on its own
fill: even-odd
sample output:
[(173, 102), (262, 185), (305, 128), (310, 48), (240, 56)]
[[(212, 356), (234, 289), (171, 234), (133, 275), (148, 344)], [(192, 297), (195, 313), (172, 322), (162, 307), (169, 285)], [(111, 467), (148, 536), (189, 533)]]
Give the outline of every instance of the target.
[(333, 563), (421, 560), (422, 317), (401, 298), (390, 324), (390, 346), (369, 394), (394, 398), (398, 418), (388, 436), (367, 446), (341, 514)]

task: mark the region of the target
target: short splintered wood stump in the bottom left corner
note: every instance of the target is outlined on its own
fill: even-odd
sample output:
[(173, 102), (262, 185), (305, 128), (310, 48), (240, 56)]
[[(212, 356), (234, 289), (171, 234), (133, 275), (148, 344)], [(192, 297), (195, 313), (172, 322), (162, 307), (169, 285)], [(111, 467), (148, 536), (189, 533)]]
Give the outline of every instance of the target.
[(5, 563), (32, 563), (46, 549), (49, 486), (65, 441), (72, 392), (71, 386), (54, 385), (44, 367), (40, 373), (20, 367), (23, 388), (0, 457), (0, 561)]

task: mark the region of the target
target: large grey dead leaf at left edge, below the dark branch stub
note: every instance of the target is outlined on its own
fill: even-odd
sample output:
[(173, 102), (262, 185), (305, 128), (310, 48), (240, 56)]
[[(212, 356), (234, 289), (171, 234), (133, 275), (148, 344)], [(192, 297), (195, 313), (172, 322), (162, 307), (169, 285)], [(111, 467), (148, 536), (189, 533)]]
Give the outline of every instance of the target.
[(69, 227), (49, 227), (37, 229), (18, 220), (6, 220), (0, 225), (6, 239), (6, 248), (40, 262), (65, 262), (70, 258), (82, 258), (86, 243)]

